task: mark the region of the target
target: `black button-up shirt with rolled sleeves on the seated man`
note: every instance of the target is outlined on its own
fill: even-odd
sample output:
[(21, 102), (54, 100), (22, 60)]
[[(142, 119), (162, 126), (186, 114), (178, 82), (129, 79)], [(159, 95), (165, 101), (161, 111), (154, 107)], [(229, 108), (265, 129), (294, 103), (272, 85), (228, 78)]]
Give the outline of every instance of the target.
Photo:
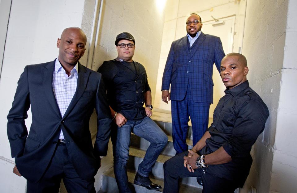
[(232, 161), (209, 165), (204, 170), (242, 187), (252, 165), (252, 145), (263, 132), (269, 111), (260, 96), (249, 87), (248, 81), (226, 89), (225, 93), (214, 110), (213, 123), (208, 128), (211, 137), (200, 153), (209, 154), (223, 146)]

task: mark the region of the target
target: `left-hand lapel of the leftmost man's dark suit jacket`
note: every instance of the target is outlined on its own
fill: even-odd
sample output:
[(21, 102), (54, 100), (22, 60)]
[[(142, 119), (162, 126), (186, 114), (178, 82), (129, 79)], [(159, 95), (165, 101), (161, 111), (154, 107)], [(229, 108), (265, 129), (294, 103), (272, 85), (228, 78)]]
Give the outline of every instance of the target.
[(53, 91), (53, 73), (55, 68), (55, 61), (50, 62), (49, 64), (41, 67), (42, 69), (42, 90), (45, 92), (45, 96), (47, 97), (49, 103), (53, 107), (55, 113), (61, 118), (61, 112), (58, 107), (55, 94)]

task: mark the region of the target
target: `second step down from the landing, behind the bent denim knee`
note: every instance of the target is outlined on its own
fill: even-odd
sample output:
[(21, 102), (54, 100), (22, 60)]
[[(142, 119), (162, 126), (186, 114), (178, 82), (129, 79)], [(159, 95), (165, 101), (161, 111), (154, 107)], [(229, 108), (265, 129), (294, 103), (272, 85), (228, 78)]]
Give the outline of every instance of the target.
[[(133, 146), (135, 148), (142, 149), (142, 150), (148, 149), (150, 145), (149, 141), (139, 136), (136, 136), (133, 133), (131, 133), (130, 141), (131, 141), (130, 146)], [(191, 139), (187, 139), (187, 145), (188, 145), (188, 149), (192, 149), (193, 141)], [(163, 149), (162, 154), (169, 155), (169, 156), (174, 156), (176, 154), (176, 151), (173, 148), (172, 136), (168, 136), (168, 143)]]

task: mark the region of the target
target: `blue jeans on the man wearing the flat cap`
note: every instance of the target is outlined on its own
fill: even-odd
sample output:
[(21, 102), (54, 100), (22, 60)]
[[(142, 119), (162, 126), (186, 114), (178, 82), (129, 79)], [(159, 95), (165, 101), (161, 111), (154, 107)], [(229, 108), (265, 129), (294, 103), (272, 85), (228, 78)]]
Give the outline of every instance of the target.
[(138, 166), (138, 174), (144, 177), (149, 176), (153, 164), (168, 142), (166, 134), (149, 117), (145, 117), (140, 121), (128, 120), (122, 127), (112, 130), (114, 175), (120, 193), (131, 193), (128, 187), (126, 166), (129, 159), (131, 132), (151, 143), (146, 150), (143, 161)]

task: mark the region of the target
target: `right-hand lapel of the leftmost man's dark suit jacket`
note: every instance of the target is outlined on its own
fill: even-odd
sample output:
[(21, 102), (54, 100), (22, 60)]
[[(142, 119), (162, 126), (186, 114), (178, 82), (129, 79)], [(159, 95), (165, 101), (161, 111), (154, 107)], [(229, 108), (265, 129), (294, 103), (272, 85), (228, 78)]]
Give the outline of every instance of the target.
[(67, 117), (67, 115), (71, 112), (75, 104), (78, 102), (80, 97), (84, 94), (84, 90), (87, 86), (88, 78), (90, 73), (87, 72), (85, 67), (78, 63), (78, 73), (77, 73), (77, 86), (74, 96), (63, 116), (63, 118)]

